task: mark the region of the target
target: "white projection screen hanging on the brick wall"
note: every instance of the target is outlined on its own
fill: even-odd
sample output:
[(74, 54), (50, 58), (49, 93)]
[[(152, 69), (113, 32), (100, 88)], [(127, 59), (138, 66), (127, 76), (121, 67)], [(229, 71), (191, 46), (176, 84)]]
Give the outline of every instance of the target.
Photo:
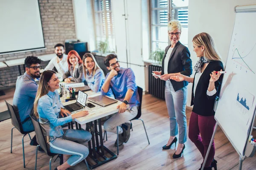
[(0, 54), (45, 48), (38, 0), (1, 0), (0, 16)]

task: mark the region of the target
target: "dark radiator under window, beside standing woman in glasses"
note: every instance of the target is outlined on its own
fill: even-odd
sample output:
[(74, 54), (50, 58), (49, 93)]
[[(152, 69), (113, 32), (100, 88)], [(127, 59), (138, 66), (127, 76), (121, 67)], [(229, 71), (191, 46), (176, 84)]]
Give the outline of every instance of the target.
[(164, 97), (164, 81), (156, 79), (152, 76), (152, 71), (161, 71), (161, 67), (157, 65), (148, 66), (148, 92), (149, 94), (160, 98), (165, 99)]

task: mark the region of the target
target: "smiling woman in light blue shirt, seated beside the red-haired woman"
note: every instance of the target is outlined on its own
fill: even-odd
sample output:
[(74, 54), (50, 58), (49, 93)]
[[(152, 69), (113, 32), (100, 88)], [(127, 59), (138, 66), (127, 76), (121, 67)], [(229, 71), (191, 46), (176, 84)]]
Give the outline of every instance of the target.
[(84, 76), (90, 89), (97, 93), (103, 85), (105, 76), (93, 54), (85, 53), (83, 57)]

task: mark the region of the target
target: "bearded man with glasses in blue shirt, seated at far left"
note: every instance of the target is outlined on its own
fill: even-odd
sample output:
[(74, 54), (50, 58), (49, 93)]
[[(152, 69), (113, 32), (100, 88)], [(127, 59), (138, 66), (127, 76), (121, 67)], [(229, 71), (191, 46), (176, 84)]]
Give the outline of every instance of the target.
[[(40, 78), (40, 69), (42, 66), (41, 59), (34, 56), (28, 56), (25, 59), (26, 72), (17, 78), (16, 89), (13, 96), (13, 107), (20, 115), (20, 122), (25, 132), (34, 130), (30, 114), (33, 114), (33, 104), (38, 85), (35, 78)], [(37, 146), (35, 136), (30, 142), (31, 145)]]

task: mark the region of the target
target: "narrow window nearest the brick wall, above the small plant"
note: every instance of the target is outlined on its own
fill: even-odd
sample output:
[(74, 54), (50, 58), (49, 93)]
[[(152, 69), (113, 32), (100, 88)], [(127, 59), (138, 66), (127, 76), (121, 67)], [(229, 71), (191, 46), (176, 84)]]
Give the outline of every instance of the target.
[(111, 0), (93, 0), (96, 45), (107, 41), (109, 51), (116, 51)]

